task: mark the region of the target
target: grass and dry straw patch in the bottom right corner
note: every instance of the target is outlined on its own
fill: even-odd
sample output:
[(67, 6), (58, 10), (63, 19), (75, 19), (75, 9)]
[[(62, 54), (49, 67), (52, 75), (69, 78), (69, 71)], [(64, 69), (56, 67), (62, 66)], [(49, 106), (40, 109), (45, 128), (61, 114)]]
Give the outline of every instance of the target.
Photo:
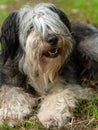
[(65, 126), (68, 130), (98, 129), (98, 95), (89, 101), (81, 102), (74, 112), (71, 124)]

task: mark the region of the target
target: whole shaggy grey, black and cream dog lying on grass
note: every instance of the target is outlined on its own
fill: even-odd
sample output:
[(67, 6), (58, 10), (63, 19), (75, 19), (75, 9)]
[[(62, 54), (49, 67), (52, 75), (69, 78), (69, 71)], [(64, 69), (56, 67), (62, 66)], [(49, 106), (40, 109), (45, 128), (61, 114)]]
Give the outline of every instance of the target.
[(40, 99), (37, 117), (44, 127), (64, 126), (77, 103), (92, 95), (81, 86), (85, 67), (98, 79), (96, 32), (92, 25), (71, 26), (50, 3), (11, 13), (1, 28), (0, 121), (24, 118)]

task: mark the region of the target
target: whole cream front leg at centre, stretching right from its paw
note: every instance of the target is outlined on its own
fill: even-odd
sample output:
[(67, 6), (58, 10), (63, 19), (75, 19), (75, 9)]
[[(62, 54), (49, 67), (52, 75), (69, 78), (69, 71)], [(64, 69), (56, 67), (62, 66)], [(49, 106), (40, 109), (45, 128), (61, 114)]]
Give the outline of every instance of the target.
[(40, 122), (46, 128), (57, 129), (64, 126), (72, 118), (72, 110), (78, 99), (88, 99), (91, 93), (90, 89), (69, 85), (62, 92), (48, 95), (38, 113)]

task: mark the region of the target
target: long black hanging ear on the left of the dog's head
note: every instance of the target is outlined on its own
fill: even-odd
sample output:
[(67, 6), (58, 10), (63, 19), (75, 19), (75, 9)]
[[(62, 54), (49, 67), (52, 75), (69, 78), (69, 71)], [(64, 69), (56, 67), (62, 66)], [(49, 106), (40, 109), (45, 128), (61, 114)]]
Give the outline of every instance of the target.
[(13, 59), (19, 47), (19, 19), (18, 13), (11, 13), (4, 21), (1, 27), (1, 49), (3, 62), (5, 63), (8, 58)]

